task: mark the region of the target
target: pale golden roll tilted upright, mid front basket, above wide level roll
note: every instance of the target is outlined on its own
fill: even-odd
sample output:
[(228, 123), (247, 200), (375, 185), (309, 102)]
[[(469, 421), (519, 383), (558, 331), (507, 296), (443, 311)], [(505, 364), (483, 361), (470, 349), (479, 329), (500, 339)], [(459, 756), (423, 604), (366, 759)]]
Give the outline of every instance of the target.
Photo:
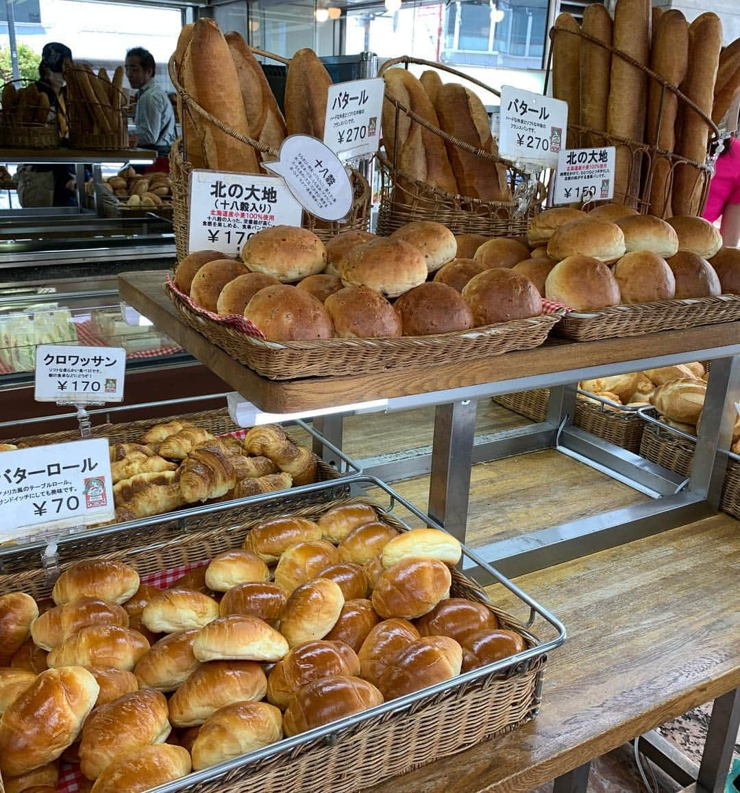
[(288, 598), (280, 618), (280, 632), (291, 647), (323, 639), (342, 613), (344, 596), (339, 584), (314, 578), (301, 584)]

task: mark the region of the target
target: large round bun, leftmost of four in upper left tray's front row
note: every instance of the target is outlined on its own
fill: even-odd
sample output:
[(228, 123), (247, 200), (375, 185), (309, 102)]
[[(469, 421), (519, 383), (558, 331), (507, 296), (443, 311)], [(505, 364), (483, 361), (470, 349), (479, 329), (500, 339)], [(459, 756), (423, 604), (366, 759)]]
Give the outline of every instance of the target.
[(332, 339), (332, 318), (316, 297), (285, 284), (260, 289), (244, 309), (268, 339), (278, 342)]

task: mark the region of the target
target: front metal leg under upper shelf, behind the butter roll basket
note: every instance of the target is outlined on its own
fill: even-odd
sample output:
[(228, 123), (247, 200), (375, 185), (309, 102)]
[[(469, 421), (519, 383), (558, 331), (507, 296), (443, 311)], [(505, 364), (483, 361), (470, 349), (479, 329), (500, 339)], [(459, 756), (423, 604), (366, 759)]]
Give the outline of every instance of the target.
[(441, 404), (435, 411), (429, 514), (461, 542), (468, 522), (476, 408), (475, 402), (464, 400)]

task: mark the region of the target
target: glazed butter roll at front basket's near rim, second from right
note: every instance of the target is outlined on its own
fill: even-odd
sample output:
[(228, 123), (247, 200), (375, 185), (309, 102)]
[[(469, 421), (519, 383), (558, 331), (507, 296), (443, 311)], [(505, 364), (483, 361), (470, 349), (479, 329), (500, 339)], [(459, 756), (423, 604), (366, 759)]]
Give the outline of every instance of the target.
[(416, 639), (383, 669), (378, 688), (383, 699), (396, 699), (460, 674), (462, 647), (447, 636)]

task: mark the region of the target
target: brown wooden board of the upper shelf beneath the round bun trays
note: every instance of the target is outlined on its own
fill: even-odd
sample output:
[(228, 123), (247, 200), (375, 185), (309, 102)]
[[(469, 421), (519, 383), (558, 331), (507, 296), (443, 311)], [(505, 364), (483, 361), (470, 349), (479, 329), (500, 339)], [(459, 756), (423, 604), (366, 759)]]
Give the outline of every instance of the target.
[[(232, 389), (270, 413), (304, 412), (369, 400), (410, 397), (590, 366), (606, 367), (661, 355), (691, 355), (696, 351), (711, 351), (740, 344), (740, 322), (728, 322), (681, 331), (661, 331), (628, 340), (569, 342), (552, 339), (534, 350), (508, 352), (475, 362), (451, 361), (427, 366), (424, 361), (420, 361), (418, 367), (408, 368), (403, 374), (381, 372), (270, 381), (235, 361), (205, 336), (189, 328), (165, 294), (163, 284), (162, 270), (121, 273), (118, 276), (122, 301), (148, 317), (160, 332), (184, 347)], [(535, 388), (536, 385), (530, 387)]]

